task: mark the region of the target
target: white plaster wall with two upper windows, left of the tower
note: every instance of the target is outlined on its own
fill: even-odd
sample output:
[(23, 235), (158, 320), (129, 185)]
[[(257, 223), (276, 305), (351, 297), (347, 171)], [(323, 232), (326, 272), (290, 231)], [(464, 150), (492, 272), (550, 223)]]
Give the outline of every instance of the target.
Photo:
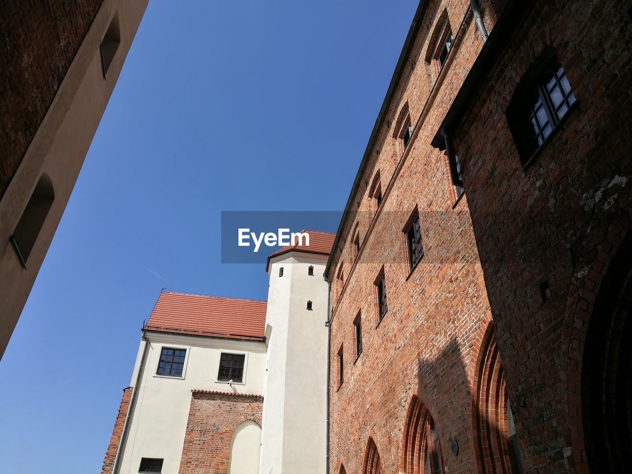
[[(121, 451), (119, 473), (137, 473), (141, 458), (163, 458), (162, 474), (177, 474), (191, 389), (263, 394), (266, 346), (257, 341), (178, 336), (160, 332), (147, 332), (147, 337), (147, 361), (142, 369), (137, 400), (125, 446)], [(186, 349), (182, 377), (156, 374), (163, 346)], [(140, 344), (131, 386), (136, 383), (142, 350), (143, 344)], [(226, 382), (217, 382), (222, 352), (245, 354), (243, 383), (233, 382), (233, 387), (230, 387)]]

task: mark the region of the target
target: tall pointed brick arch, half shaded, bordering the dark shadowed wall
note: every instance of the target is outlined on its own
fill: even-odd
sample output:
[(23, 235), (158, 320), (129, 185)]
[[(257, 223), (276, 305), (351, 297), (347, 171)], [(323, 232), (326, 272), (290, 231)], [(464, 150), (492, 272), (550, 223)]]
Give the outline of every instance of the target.
[(469, 370), (473, 458), (477, 460), (479, 474), (511, 474), (504, 369), (494, 322), (489, 314), (483, 320), (474, 344), (475, 354)]

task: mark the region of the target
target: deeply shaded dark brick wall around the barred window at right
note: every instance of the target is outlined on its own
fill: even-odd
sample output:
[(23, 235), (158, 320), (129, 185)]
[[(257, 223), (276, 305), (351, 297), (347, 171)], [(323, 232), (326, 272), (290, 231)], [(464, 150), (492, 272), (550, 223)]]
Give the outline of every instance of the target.
[[(456, 152), (507, 391), (525, 398), (515, 416), (525, 470), (585, 473), (584, 341), (632, 208), (632, 11), (623, 1), (538, 1), (518, 24), (454, 132)], [(523, 169), (505, 112), (545, 47), (577, 102)]]

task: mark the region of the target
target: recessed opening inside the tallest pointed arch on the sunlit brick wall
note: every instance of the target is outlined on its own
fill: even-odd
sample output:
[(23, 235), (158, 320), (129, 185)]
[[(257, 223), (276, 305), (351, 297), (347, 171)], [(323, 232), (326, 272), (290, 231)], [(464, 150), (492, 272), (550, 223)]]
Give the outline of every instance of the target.
[(521, 472), (520, 453), (494, 324), (490, 322), (484, 331), (477, 358), (473, 403), (479, 471), (484, 474), (518, 474)]

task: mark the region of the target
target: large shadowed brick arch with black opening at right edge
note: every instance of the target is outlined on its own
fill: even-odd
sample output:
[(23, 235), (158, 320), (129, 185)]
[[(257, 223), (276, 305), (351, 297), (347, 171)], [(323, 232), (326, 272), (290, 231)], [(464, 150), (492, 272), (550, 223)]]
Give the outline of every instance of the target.
[(614, 222), (588, 270), (578, 310), (566, 322), (568, 416), (578, 459), (571, 472), (614, 473), (632, 462), (630, 228), (629, 214)]

